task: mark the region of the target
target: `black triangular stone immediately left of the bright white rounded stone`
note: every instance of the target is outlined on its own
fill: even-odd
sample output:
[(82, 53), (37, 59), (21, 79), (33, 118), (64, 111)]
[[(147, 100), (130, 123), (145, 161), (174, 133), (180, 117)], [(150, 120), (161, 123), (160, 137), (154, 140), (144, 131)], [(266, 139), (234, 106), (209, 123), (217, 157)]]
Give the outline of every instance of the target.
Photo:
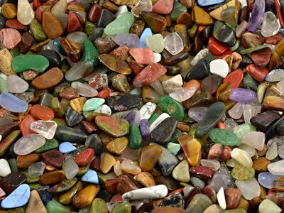
[(185, 82), (190, 80), (202, 80), (209, 75), (206, 60), (202, 59), (185, 75)]

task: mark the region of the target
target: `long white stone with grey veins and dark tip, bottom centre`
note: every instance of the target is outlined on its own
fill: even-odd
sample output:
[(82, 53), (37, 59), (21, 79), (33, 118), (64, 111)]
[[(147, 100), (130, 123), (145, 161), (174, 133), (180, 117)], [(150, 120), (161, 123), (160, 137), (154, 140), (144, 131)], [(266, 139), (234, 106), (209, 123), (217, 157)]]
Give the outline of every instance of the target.
[(155, 185), (153, 187), (141, 188), (124, 193), (123, 200), (138, 199), (159, 199), (168, 195), (168, 188), (165, 185)]

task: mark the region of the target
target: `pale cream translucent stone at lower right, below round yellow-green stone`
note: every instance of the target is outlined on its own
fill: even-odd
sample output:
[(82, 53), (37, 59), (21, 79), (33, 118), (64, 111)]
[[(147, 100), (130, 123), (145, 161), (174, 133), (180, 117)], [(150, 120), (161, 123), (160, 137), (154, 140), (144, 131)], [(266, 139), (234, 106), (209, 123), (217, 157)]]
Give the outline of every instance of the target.
[(246, 200), (252, 200), (253, 197), (261, 195), (261, 187), (256, 178), (251, 180), (236, 180), (236, 186)]

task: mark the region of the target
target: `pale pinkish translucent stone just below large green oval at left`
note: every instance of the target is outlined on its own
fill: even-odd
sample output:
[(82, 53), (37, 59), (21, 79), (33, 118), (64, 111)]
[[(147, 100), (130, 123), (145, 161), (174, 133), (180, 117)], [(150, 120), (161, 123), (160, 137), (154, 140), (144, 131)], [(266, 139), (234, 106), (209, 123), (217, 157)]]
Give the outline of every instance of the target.
[(8, 92), (22, 93), (28, 89), (28, 83), (17, 75), (10, 75), (6, 78)]

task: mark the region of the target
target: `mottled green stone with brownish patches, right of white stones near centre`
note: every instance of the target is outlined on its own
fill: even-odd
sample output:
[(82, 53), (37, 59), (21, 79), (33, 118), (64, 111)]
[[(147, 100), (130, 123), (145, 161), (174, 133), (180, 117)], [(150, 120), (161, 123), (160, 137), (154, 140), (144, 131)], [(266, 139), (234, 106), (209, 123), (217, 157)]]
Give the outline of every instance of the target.
[(158, 99), (158, 107), (160, 108), (160, 111), (168, 113), (170, 116), (178, 119), (178, 121), (182, 121), (185, 116), (185, 110), (183, 109), (182, 104), (168, 95), (163, 95)]

